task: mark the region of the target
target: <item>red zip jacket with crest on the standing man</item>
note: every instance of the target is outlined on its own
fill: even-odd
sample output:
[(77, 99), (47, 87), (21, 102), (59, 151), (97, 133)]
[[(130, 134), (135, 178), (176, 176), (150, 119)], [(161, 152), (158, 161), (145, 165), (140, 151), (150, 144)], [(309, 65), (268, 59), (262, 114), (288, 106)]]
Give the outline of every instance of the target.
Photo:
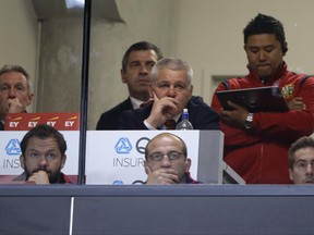
[[(266, 84), (250, 70), (250, 74), (244, 77), (219, 84), (216, 91), (263, 86), (278, 86), (287, 102), (302, 97), (306, 109), (255, 112), (252, 132), (220, 122), (225, 134), (224, 159), (246, 184), (289, 184), (289, 147), (298, 138), (309, 136), (314, 131), (314, 77), (289, 72), (283, 62), (282, 67)], [(215, 94), (212, 108), (218, 113), (221, 110)]]

